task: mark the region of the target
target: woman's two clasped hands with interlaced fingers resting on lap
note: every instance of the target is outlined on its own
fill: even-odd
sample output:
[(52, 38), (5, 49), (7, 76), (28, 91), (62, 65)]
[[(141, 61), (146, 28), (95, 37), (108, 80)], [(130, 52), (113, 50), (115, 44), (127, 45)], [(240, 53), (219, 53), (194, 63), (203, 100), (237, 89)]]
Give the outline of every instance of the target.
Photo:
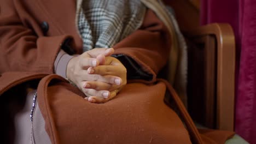
[(114, 57), (113, 48), (95, 48), (73, 57), (66, 75), (91, 103), (106, 103), (126, 85), (126, 68)]

